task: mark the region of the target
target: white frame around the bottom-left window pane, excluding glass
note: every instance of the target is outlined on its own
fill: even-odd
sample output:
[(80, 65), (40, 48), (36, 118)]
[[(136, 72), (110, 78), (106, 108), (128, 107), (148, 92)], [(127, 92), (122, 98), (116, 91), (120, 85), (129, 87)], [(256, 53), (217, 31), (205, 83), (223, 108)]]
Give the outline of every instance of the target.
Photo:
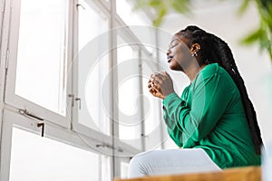
[[(11, 163), (11, 143), (12, 143), (12, 131), (13, 128), (24, 129), (36, 135), (41, 136), (42, 129), (37, 127), (40, 123), (36, 119), (29, 119), (23, 115), (18, 114), (15, 110), (6, 109), (4, 111), (4, 124), (3, 124), (3, 138), (1, 142), (1, 167), (0, 167), (0, 179), (5, 181), (9, 180), (10, 175), (10, 163)], [(95, 150), (96, 145), (101, 144), (98, 141), (93, 141), (91, 138), (79, 136), (71, 130), (63, 129), (61, 126), (52, 124), (49, 121), (44, 121), (44, 138), (51, 138), (56, 141), (61, 141), (65, 144), (71, 145), (76, 148), (81, 148), (94, 153), (107, 152), (110, 148), (99, 148)], [(88, 143), (88, 144), (86, 144)], [(101, 173), (102, 174), (102, 173)], [(111, 176), (111, 179), (113, 177)]]

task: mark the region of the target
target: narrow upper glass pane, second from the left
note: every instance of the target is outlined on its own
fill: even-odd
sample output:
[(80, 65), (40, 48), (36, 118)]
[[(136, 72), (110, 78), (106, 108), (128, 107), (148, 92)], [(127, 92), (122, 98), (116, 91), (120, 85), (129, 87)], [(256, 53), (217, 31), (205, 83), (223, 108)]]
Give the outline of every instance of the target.
[(108, 30), (108, 20), (83, 0), (78, 8), (78, 90), (83, 100), (78, 122), (109, 135), (110, 119), (102, 104), (102, 99), (108, 99), (102, 98), (110, 63), (108, 53), (103, 52), (108, 44), (108, 34), (103, 34)]

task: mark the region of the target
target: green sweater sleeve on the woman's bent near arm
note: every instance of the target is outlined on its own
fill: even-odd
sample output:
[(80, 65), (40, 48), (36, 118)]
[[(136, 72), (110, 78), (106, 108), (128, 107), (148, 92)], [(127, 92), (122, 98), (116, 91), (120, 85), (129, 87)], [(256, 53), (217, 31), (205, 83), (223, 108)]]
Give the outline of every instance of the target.
[(175, 121), (176, 127), (183, 135), (183, 145), (191, 146), (191, 140), (197, 143), (207, 137), (218, 123), (231, 98), (228, 83), (219, 74), (214, 73), (199, 80), (191, 90), (190, 108), (176, 93), (171, 93), (162, 101), (169, 120)]

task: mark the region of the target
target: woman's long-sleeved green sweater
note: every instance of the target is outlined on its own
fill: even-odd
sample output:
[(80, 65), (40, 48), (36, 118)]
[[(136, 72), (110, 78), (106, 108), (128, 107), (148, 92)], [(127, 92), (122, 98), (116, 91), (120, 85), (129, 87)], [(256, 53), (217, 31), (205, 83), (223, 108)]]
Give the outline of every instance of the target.
[(171, 93), (162, 103), (179, 147), (202, 148), (221, 168), (260, 165), (238, 87), (218, 63), (199, 71), (181, 98)]

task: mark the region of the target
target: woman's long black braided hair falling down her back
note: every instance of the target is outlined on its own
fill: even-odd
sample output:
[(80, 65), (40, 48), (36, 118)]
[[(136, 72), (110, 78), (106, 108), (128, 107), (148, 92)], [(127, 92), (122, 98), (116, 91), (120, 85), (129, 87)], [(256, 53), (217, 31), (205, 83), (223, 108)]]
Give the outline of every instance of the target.
[(235, 81), (244, 105), (250, 134), (251, 138), (253, 139), (256, 153), (260, 154), (260, 149), (263, 142), (260, 136), (260, 129), (257, 125), (256, 111), (254, 110), (252, 102), (248, 98), (245, 83), (238, 71), (228, 44), (221, 40), (218, 36), (207, 33), (197, 26), (188, 26), (177, 34), (189, 40), (189, 44), (187, 44), (188, 46), (190, 46), (192, 43), (199, 43), (201, 47), (199, 50), (201, 62), (199, 62), (199, 65), (217, 62), (219, 63), (219, 66), (228, 71), (233, 81)]

